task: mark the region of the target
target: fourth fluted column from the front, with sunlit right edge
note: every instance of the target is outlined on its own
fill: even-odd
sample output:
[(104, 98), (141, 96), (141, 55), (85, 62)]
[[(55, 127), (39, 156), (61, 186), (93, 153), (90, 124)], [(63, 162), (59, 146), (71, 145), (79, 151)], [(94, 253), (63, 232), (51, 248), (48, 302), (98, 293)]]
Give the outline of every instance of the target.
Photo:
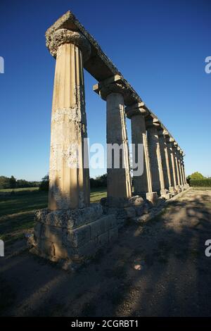
[(160, 123), (157, 118), (147, 121), (148, 149), (151, 161), (151, 174), (153, 191), (159, 192), (161, 196), (167, 194), (162, 170), (162, 159), (160, 154), (160, 143), (158, 138), (158, 127)]

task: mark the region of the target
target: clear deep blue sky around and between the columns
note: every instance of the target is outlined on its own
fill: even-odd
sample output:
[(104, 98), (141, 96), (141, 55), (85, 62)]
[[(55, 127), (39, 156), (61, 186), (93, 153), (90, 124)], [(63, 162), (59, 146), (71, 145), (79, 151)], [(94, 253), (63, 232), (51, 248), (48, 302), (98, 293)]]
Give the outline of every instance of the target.
[[(1, 0), (0, 175), (49, 170), (55, 60), (44, 33), (71, 10), (186, 153), (186, 174), (211, 175), (211, 1)], [(88, 135), (106, 141), (106, 103), (85, 72)], [(127, 120), (130, 139), (130, 123)], [(91, 170), (91, 176), (102, 170)]]

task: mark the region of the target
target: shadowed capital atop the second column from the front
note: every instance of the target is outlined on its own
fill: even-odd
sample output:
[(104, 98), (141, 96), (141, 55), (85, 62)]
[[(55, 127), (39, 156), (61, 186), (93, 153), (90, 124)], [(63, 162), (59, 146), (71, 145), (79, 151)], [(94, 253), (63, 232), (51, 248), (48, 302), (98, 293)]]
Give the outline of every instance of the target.
[(113, 75), (102, 82), (98, 82), (98, 84), (94, 85), (93, 90), (105, 101), (108, 94), (111, 93), (120, 93), (123, 96), (131, 94), (129, 87), (127, 87), (120, 75)]

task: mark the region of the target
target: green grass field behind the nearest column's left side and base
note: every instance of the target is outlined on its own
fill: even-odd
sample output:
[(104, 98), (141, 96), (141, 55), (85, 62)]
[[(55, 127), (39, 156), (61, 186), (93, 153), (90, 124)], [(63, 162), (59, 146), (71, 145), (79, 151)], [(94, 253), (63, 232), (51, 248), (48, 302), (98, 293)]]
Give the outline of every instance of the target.
[[(13, 242), (24, 237), (34, 226), (34, 211), (46, 208), (48, 193), (34, 188), (15, 189), (14, 194), (0, 194), (0, 239)], [(1, 190), (0, 192), (11, 192)], [(91, 202), (98, 202), (106, 196), (106, 188), (91, 190)]]

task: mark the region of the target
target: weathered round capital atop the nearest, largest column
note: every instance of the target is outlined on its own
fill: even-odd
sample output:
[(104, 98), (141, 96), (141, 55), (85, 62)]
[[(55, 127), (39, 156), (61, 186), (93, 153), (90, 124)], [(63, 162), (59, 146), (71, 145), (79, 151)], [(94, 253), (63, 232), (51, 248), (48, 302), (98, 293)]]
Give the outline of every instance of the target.
[(82, 33), (68, 29), (58, 29), (51, 34), (46, 33), (46, 46), (51, 55), (56, 58), (58, 48), (63, 44), (75, 44), (83, 53), (84, 61), (87, 61), (91, 54), (89, 41)]

